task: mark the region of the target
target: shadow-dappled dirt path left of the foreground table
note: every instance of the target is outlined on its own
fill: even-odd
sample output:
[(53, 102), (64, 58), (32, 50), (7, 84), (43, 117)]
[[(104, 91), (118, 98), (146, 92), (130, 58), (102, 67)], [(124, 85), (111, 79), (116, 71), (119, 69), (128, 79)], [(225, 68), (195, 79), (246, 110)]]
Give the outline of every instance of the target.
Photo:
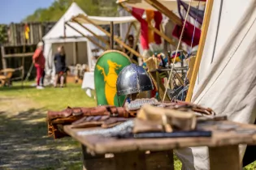
[(72, 138), (47, 137), (45, 108), (0, 96), (0, 169), (81, 169), (80, 159)]

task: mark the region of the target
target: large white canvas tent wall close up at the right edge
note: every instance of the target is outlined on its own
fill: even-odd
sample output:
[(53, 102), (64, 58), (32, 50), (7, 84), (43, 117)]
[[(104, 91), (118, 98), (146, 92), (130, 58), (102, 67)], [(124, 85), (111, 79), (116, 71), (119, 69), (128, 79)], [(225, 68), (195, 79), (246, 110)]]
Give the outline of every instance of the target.
[[(230, 121), (254, 123), (255, 58), (256, 0), (215, 0), (192, 102)], [(245, 146), (240, 152), (242, 159)], [(210, 169), (206, 147), (185, 148), (176, 155), (184, 169)]]

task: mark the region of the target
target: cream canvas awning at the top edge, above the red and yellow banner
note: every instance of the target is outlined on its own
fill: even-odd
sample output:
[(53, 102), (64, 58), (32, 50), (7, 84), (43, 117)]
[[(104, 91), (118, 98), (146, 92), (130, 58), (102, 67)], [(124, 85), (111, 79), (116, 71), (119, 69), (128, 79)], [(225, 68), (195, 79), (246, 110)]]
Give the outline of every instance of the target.
[[(145, 10), (154, 10), (157, 11), (153, 6), (144, 0), (117, 0), (117, 3), (125, 2), (125, 5), (131, 7), (137, 7)], [(177, 10), (177, 1), (176, 0), (158, 0), (158, 2), (162, 3), (163, 6), (166, 6), (170, 11)], [(190, 0), (183, 0), (183, 2), (189, 4)], [(200, 2), (200, 4), (205, 4), (206, 2)], [(192, 6), (198, 6), (198, 1), (192, 1)]]

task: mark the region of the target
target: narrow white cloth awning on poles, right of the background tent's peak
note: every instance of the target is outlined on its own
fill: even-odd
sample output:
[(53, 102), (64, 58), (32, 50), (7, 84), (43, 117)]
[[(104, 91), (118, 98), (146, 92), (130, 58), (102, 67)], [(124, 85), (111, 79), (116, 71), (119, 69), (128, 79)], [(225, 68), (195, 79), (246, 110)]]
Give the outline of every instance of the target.
[(72, 19), (76, 19), (79, 23), (89, 23), (85, 17), (93, 21), (98, 25), (109, 25), (111, 22), (114, 24), (118, 23), (131, 23), (137, 22), (133, 16), (120, 16), (120, 17), (102, 17), (102, 16), (88, 16), (88, 15), (76, 15), (73, 16)]

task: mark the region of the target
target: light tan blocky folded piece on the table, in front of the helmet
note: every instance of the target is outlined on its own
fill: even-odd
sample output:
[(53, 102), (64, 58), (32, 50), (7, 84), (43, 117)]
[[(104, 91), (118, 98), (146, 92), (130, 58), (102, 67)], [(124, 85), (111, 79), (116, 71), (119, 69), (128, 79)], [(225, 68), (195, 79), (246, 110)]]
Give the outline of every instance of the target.
[(133, 133), (189, 131), (195, 130), (196, 125), (196, 115), (192, 110), (181, 111), (145, 104), (137, 113)]

